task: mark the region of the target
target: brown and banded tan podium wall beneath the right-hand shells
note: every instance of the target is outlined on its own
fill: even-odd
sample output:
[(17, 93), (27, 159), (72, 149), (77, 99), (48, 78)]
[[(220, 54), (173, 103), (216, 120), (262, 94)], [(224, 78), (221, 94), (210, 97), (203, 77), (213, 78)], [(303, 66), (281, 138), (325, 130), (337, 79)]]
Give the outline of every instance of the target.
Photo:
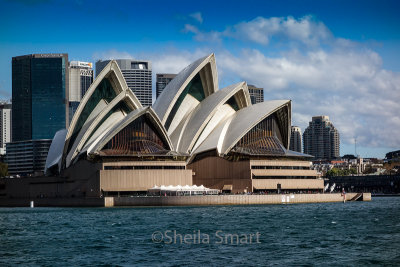
[(310, 167), (310, 162), (300, 160), (244, 160), (228, 161), (220, 157), (207, 157), (187, 166), (192, 169), (193, 184), (209, 188), (222, 189), (224, 185), (232, 185), (232, 192), (245, 192), (256, 189), (323, 189), (324, 182), (319, 179), (252, 179), (257, 176), (311, 176), (317, 178), (315, 170), (297, 169), (251, 169), (251, 166), (298, 166)]

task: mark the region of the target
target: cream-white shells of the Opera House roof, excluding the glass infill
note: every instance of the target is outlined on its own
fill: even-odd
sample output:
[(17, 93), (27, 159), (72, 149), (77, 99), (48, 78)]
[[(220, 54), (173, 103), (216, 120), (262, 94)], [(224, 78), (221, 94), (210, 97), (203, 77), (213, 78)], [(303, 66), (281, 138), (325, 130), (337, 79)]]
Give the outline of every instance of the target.
[[(183, 104), (175, 114), (168, 131), (164, 124), (177, 99), (195, 75), (199, 74), (205, 98), (190, 102), (185, 96)], [(85, 106), (90, 101), (96, 88), (107, 78), (115, 91), (106, 99), (90, 102), (92, 109), (81, 118)], [(235, 111), (227, 103), (234, 97), (239, 110)], [(185, 100), (187, 100), (185, 102)], [(93, 100), (92, 100), (93, 101)], [(113, 109), (118, 103), (126, 103), (129, 108)], [(189, 101), (189, 102), (188, 102)], [(100, 150), (118, 132), (140, 116), (146, 115), (157, 129), (160, 137), (168, 144), (171, 151), (182, 155), (194, 156), (198, 153), (216, 150), (219, 155), (226, 155), (235, 144), (260, 121), (274, 112), (287, 107), (287, 116), (281, 117), (285, 138), (290, 138), (291, 101), (273, 100), (256, 105), (251, 104), (245, 82), (237, 83), (218, 90), (218, 76), (214, 54), (200, 58), (184, 68), (163, 90), (151, 107), (142, 107), (139, 100), (128, 88), (118, 64), (113, 60), (97, 76), (81, 101), (68, 131), (57, 132), (50, 147), (46, 168), (59, 164), (68, 167), (77, 159), (78, 154), (99, 154)], [(115, 112), (114, 112), (115, 110)], [(130, 113), (130, 110), (132, 110)], [(107, 114), (113, 113), (108, 117)], [(88, 114), (91, 112), (90, 114)], [(106, 119), (107, 115), (107, 119)], [(81, 120), (79, 120), (81, 118)], [(83, 122), (85, 120), (85, 122)], [(79, 121), (79, 122), (78, 122)], [(79, 125), (79, 126), (77, 126)], [(287, 126), (287, 127), (286, 127)], [(75, 129), (79, 127), (79, 129)], [(71, 139), (71, 136), (75, 138)], [(68, 142), (71, 144), (68, 144)], [(172, 141), (171, 141), (172, 140)], [(63, 141), (65, 141), (63, 144)], [(284, 141), (286, 143), (286, 140)], [(288, 143), (288, 142), (287, 142)], [(69, 149), (69, 151), (67, 151)]]

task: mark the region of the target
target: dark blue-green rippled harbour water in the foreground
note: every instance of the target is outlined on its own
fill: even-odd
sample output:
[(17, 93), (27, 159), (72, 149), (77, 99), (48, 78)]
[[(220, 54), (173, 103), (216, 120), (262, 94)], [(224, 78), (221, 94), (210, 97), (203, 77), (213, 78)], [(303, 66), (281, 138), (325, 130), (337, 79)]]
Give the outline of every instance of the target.
[(400, 265), (400, 198), (0, 208), (0, 266)]

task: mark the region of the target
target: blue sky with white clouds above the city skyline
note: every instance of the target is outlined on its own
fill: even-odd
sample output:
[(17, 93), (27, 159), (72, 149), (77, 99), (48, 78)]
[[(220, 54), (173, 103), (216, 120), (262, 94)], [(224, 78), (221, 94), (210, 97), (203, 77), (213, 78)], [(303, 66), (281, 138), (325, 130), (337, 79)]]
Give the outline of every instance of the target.
[(328, 115), (341, 154), (400, 149), (398, 1), (0, 0), (0, 98), (11, 57), (150, 59), (178, 72), (216, 54), (220, 87), (245, 80), (293, 100), (293, 124)]

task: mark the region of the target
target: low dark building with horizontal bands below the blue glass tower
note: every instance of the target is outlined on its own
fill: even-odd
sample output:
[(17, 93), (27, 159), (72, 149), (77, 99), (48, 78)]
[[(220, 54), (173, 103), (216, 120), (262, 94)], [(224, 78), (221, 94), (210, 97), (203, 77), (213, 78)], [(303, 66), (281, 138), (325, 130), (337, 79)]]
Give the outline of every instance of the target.
[(51, 139), (26, 140), (6, 144), (10, 176), (43, 175)]

